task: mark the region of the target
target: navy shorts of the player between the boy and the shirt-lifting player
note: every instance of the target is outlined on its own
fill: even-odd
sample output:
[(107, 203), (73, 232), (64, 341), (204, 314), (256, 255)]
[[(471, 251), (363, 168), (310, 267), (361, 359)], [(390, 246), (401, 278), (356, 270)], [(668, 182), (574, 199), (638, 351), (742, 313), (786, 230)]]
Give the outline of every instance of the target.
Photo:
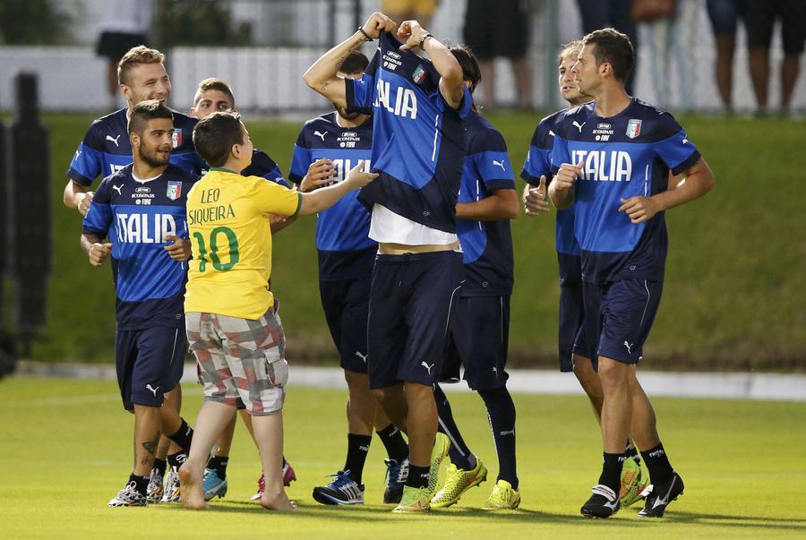
[(366, 373), (366, 319), (372, 279), (320, 281), (322, 309), (340, 364), (349, 372)]

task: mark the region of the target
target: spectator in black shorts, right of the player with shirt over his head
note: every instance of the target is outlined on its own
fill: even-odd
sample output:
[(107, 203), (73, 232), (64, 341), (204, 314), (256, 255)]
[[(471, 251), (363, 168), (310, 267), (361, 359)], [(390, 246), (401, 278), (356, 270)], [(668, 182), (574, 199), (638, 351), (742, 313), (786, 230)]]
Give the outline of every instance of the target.
[(522, 0), (467, 0), (465, 43), (481, 65), (484, 106), (495, 102), (495, 66), (497, 56), (510, 59), (515, 74), (518, 106), (532, 108), (532, 80), (526, 59), (529, 45), (529, 14)]

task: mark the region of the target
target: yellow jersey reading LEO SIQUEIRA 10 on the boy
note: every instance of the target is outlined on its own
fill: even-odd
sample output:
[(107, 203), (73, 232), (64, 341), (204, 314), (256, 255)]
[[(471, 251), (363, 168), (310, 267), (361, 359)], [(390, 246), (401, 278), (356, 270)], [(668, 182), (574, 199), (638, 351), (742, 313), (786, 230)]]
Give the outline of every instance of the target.
[(302, 195), (259, 176), (212, 167), (187, 194), (193, 244), (185, 312), (260, 319), (274, 304), (270, 214), (296, 216)]

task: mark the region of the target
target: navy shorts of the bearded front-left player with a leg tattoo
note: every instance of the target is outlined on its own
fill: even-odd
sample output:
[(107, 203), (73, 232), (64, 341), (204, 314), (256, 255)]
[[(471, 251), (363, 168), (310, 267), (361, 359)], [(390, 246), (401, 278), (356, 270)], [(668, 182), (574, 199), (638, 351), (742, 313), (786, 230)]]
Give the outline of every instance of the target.
[(117, 385), (126, 410), (133, 410), (135, 403), (160, 407), (163, 394), (182, 379), (186, 351), (184, 328), (118, 330)]

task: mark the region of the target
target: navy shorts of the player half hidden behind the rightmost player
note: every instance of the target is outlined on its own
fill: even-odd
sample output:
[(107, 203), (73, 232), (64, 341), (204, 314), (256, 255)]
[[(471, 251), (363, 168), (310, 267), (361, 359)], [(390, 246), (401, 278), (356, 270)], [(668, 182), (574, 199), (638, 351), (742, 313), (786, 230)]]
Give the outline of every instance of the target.
[[(557, 333), (560, 371), (572, 372), (574, 364), (571, 355), (588, 356), (574, 348), (585, 313), (585, 304), (582, 302), (582, 258), (579, 255), (557, 253), (557, 262), (560, 267), (560, 321)], [(581, 341), (580, 347), (584, 347)]]

